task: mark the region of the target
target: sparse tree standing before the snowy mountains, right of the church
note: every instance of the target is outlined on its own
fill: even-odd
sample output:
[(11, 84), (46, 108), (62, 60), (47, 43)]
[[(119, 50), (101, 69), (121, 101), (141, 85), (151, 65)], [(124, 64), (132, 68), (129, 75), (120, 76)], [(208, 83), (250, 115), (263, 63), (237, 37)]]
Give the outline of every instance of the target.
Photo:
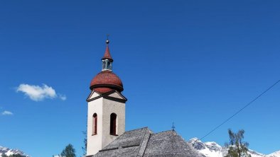
[(225, 157), (251, 157), (247, 153), (249, 143), (242, 141), (244, 139), (244, 130), (241, 129), (235, 133), (228, 129), (228, 134), (230, 136), (230, 143), (225, 144), (228, 149), (227, 156)]

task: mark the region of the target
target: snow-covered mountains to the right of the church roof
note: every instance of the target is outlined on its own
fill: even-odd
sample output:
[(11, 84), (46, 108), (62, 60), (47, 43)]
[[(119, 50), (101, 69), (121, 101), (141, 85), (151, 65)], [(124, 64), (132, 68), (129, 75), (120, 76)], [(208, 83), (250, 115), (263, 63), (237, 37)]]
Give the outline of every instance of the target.
[[(208, 141), (203, 143), (198, 138), (193, 138), (188, 141), (189, 144), (193, 146), (194, 149), (198, 150), (198, 152), (202, 153), (206, 157), (222, 157), (227, 154), (227, 149), (225, 147), (220, 146), (214, 141)], [(264, 155), (262, 153), (258, 153), (257, 151), (253, 151), (249, 149), (249, 154), (252, 157), (280, 157), (280, 151), (276, 151), (269, 155)]]

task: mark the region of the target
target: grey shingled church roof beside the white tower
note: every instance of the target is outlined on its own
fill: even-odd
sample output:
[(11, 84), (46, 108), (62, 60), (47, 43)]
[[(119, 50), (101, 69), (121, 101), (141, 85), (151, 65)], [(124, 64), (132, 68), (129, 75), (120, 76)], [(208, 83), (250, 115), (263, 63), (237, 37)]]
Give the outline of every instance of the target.
[(148, 127), (124, 132), (92, 157), (203, 157), (175, 131), (154, 134)]

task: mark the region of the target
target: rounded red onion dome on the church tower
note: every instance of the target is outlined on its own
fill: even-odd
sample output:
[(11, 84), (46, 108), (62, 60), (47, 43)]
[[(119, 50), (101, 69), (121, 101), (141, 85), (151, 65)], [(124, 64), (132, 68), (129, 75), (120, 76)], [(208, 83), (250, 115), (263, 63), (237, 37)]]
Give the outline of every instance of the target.
[(90, 82), (90, 89), (99, 93), (117, 90), (124, 91), (122, 80), (112, 71), (101, 71)]

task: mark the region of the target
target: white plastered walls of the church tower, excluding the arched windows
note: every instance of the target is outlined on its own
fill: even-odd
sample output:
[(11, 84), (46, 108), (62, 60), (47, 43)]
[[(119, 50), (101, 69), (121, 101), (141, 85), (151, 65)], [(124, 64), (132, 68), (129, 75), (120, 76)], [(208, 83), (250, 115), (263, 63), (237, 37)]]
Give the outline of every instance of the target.
[[(108, 99), (109, 98), (109, 99)], [(87, 112), (87, 156), (95, 155), (109, 143), (125, 131), (125, 101), (121, 100), (122, 96), (115, 92), (107, 97), (101, 97), (92, 91), (88, 98)], [(92, 100), (90, 100), (92, 99)], [(97, 134), (93, 132), (93, 118), (97, 114)], [(110, 135), (110, 115), (117, 114), (117, 135)]]

